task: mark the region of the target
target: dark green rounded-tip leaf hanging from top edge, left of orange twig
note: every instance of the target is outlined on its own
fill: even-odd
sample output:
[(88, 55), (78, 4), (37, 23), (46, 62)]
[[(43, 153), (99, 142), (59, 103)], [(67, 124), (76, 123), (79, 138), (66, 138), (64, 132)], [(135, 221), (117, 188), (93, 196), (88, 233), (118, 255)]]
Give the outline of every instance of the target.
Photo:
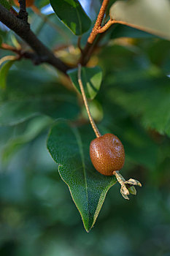
[(50, 0), (55, 14), (76, 35), (81, 35), (90, 29), (91, 21), (77, 0)]

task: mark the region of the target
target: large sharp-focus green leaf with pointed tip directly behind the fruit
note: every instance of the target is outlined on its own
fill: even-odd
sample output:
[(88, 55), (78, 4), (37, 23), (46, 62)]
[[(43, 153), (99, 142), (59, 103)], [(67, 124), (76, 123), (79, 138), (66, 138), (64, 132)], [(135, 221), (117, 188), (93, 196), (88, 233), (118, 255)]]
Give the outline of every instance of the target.
[(98, 173), (90, 161), (92, 132), (90, 127), (77, 129), (66, 121), (58, 121), (47, 140), (47, 148), (59, 165), (61, 178), (69, 186), (86, 231), (93, 227), (107, 191), (116, 182), (115, 177)]

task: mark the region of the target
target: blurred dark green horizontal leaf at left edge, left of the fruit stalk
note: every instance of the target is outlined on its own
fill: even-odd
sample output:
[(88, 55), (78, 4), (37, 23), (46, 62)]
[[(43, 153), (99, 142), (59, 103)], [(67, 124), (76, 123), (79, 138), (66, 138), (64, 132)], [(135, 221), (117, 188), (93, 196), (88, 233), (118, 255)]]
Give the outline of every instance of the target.
[(47, 115), (53, 118), (74, 118), (78, 108), (74, 98), (63, 95), (14, 99), (0, 104), (0, 125), (15, 125), (28, 118)]

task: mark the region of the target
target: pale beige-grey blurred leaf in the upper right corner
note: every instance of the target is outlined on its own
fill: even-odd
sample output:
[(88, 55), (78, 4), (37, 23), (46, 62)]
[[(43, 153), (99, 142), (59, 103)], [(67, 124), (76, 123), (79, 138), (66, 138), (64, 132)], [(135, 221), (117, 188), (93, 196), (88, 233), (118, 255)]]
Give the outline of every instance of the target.
[(170, 40), (169, 0), (116, 1), (110, 18)]

